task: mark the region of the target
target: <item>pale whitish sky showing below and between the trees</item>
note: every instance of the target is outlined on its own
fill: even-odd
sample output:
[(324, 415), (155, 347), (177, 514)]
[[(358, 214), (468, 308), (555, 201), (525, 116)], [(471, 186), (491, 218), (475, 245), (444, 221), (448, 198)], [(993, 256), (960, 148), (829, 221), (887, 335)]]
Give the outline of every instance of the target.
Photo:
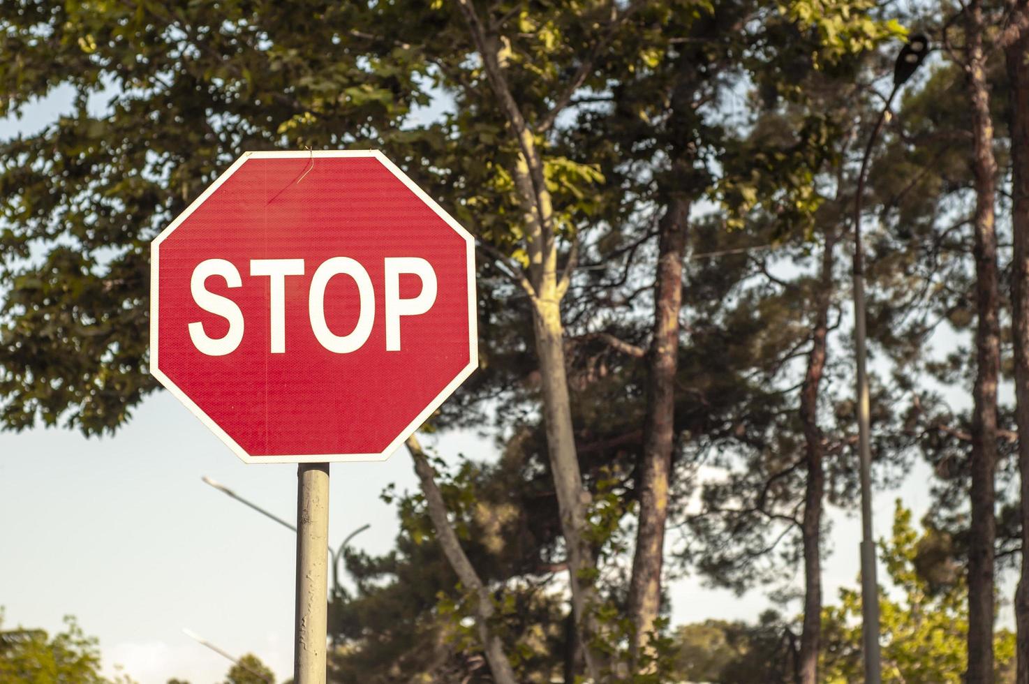
[[(22, 119), (0, 120), (0, 137), (31, 132), (67, 107), (58, 92)], [(422, 437), (452, 461), (498, 456), (472, 432)], [(247, 465), (169, 393), (146, 398), (114, 436), (86, 439), (62, 429), (0, 433), (0, 606), (3, 628), (62, 628), (74, 615), (99, 639), (105, 672), (140, 684), (176, 677), (221, 681), (230, 663), (185, 634), (228, 653), (256, 654), (282, 680), (292, 674), (293, 534), (202, 481), (207, 475), (289, 521), (295, 519), (296, 467)], [(899, 491), (877, 493), (877, 534), (888, 533), (900, 496), (921, 516), (929, 504), (926, 466)], [(352, 542), (368, 553), (392, 547), (395, 510), (379, 494), (390, 483), (414, 491), (411, 459), (333, 464), (329, 540), (370, 528)], [(831, 509), (823, 596), (857, 586), (860, 524)], [(670, 543), (674, 536), (670, 535)], [(783, 579), (801, 584), (800, 568)], [(882, 567), (879, 571), (883, 577)], [(1008, 579), (1002, 596), (1010, 596)], [(670, 586), (673, 624), (709, 617), (753, 619), (770, 602), (761, 590), (736, 597), (686, 577)], [(1012, 623), (1002, 606), (1001, 625)]]

